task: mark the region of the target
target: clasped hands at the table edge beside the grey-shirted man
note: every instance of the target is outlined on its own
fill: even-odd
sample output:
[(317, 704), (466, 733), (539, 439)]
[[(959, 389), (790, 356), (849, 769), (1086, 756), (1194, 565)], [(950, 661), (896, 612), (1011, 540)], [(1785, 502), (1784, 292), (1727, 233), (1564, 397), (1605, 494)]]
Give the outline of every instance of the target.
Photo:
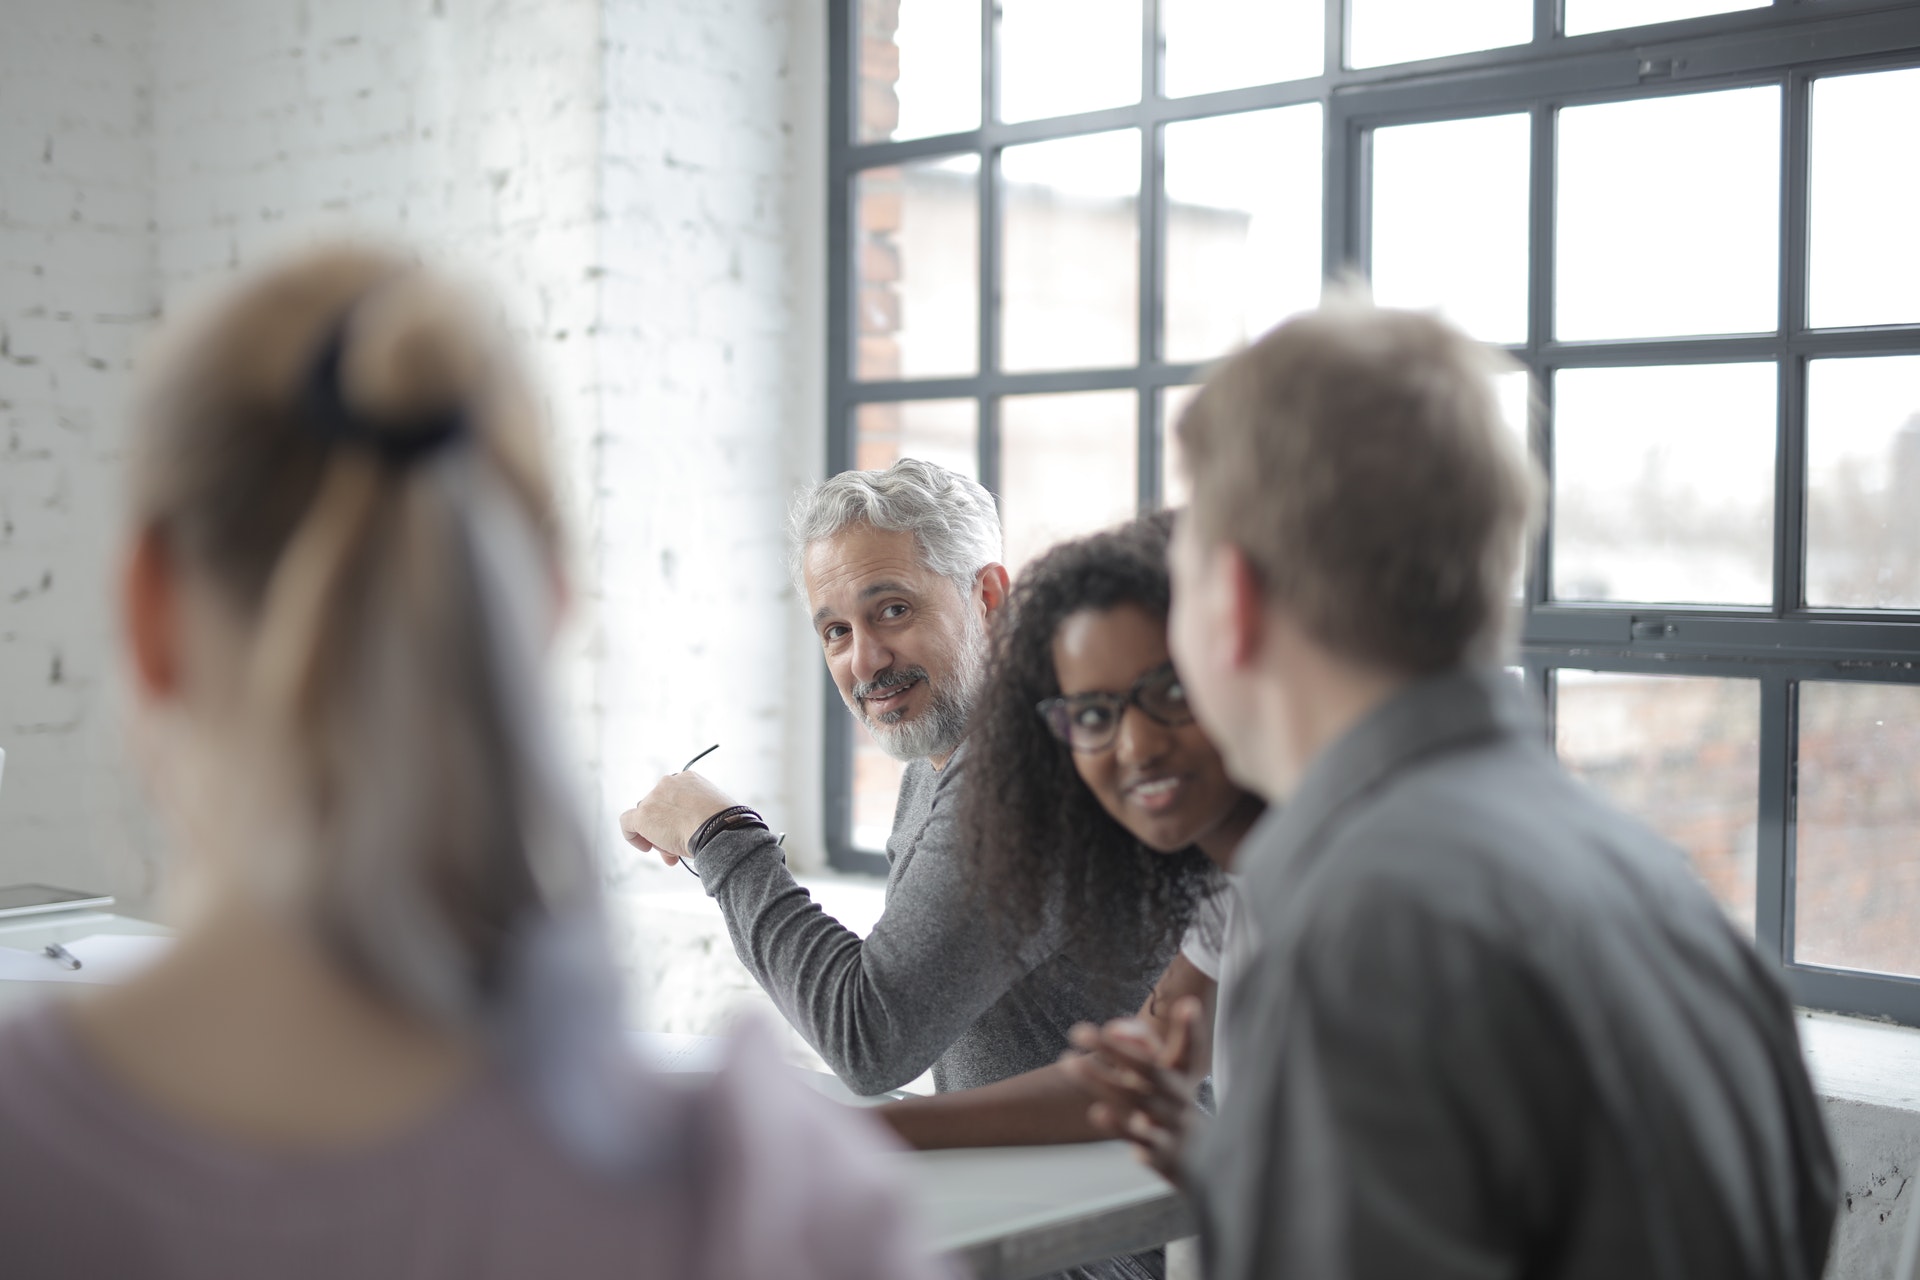
[(1181, 1150), (1198, 1115), (1198, 1080), (1188, 1071), (1200, 1015), (1198, 998), (1181, 998), (1165, 1042), (1133, 1017), (1106, 1027), (1081, 1023), (1069, 1032), (1081, 1052), (1062, 1057), (1068, 1075), (1096, 1098), (1087, 1109), (1092, 1126), (1131, 1142), (1167, 1182), (1181, 1180)]

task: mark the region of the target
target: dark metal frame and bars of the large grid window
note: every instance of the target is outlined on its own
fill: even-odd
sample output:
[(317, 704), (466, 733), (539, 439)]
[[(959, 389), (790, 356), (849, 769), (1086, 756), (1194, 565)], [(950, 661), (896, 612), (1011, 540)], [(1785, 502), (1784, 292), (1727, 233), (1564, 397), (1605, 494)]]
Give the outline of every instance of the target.
[[(1803, 965), (1789, 960), (1793, 936), (1793, 796), (1799, 681), (1920, 683), (1920, 610), (1814, 610), (1805, 578), (1805, 384), (1814, 357), (1914, 355), (1920, 324), (1868, 328), (1807, 326), (1809, 96), (1822, 75), (1920, 67), (1920, 6), (1891, 0), (1774, 0), (1770, 6), (1624, 31), (1561, 36), (1561, 0), (1534, 0), (1528, 44), (1390, 67), (1344, 69), (1348, 0), (1325, 0), (1323, 75), (1160, 98), (1162, 0), (1142, 0), (1140, 102), (1056, 119), (998, 123), (995, 0), (979, 4), (981, 127), (906, 142), (856, 144), (858, 4), (829, 4), (828, 129), (828, 472), (852, 464), (852, 418), (864, 403), (972, 399), (979, 407), (979, 476), (998, 489), (998, 401), (1016, 393), (1133, 390), (1139, 395), (1139, 503), (1160, 503), (1160, 391), (1192, 384), (1204, 365), (1167, 363), (1162, 353), (1164, 282), (1162, 127), (1306, 102), (1321, 106), (1325, 129), (1321, 257), (1329, 276), (1367, 269), (1371, 242), (1367, 175), (1371, 132), (1386, 125), (1532, 115), (1528, 338), (1511, 351), (1532, 374), (1540, 413), (1532, 449), (1551, 474), (1553, 372), (1580, 367), (1770, 361), (1778, 368), (1774, 595), (1770, 606), (1580, 604), (1549, 597), (1551, 516), (1532, 547), (1517, 664), (1548, 708), (1553, 670), (1580, 668), (1655, 676), (1738, 676), (1761, 689), (1761, 777), (1755, 944), (1782, 973), (1797, 1004), (1893, 1017), (1920, 1025), (1920, 979)], [(1555, 113), (1567, 106), (1657, 98), (1715, 88), (1782, 88), (1780, 315), (1774, 332), (1628, 342), (1559, 342), (1553, 317)], [(1008, 374), (998, 363), (1000, 226), (995, 217), (998, 150), (1021, 142), (1139, 129), (1140, 248), (1139, 359), (1119, 368)], [(856, 380), (854, 225), (858, 175), (881, 165), (966, 154), (979, 165), (979, 347), (977, 370), (960, 378)], [(885, 860), (852, 846), (852, 723), (826, 683), (826, 837), (829, 864), (883, 871)]]

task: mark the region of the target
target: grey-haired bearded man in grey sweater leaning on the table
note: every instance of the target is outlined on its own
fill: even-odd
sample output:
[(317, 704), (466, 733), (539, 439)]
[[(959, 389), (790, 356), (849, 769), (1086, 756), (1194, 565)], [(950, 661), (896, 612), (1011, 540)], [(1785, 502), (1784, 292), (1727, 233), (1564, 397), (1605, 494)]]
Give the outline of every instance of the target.
[[(897, 1088), (929, 1065), (941, 1090), (1048, 1065), (1077, 1021), (1139, 1007), (1158, 967), (1137, 988), (1102, 983), (1094, 994), (1056, 938), (1016, 946), (977, 910), (956, 808), (987, 618), (1008, 591), (993, 497), (908, 459), (803, 495), (791, 533), (833, 683), (874, 739), (910, 762), (887, 841), (887, 906), (862, 940), (812, 902), (745, 816), (693, 854), (701, 883), (747, 969), (854, 1092)], [(620, 827), (674, 862), (730, 804), (701, 775), (672, 773)]]

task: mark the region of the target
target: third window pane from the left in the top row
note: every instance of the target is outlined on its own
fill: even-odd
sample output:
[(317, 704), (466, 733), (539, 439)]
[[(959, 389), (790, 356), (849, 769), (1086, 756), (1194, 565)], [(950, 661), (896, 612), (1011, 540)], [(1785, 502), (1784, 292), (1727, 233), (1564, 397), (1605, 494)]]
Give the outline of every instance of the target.
[(1165, 94), (1212, 94), (1319, 75), (1325, 0), (1160, 0)]

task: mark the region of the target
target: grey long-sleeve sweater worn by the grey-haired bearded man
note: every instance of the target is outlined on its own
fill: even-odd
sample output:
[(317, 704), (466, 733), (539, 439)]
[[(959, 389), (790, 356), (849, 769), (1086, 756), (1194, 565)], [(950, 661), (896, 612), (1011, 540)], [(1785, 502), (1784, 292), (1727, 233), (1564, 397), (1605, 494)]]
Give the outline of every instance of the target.
[(1139, 975), (1096, 983), (1052, 931), (1010, 946), (970, 885), (964, 779), (964, 745), (941, 771), (906, 766), (887, 906), (864, 940), (793, 881), (766, 831), (722, 833), (695, 862), (741, 961), (856, 1094), (899, 1088), (929, 1065), (943, 1092), (1044, 1067), (1073, 1023), (1139, 1009), (1171, 960), (1148, 956)]

